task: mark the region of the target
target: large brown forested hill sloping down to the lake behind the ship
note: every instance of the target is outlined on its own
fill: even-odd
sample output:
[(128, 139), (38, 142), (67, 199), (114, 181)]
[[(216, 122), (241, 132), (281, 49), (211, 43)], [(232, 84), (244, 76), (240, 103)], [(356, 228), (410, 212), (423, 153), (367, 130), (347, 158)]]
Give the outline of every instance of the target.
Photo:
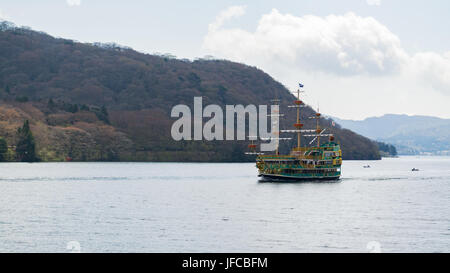
[[(29, 120), (44, 161), (253, 160), (244, 155), (245, 141), (172, 140), (170, 110), (192, 105), (194, 96), (202, 96), (204, 105), (259, 105), (279, 98), (287, 114), (284, 125), (295, 120), (295, 112), (283, 107), (293, 95), (255, 67), (82, 44), (0, 23), (0, 137), (14, 146), (17, 128)], [(302, 109), (304, 117), (314, 113)], [(331, 127), (331, 120), (322, 123)], [(379, 159), (371, 140), (330, 130), (345, 159)]]

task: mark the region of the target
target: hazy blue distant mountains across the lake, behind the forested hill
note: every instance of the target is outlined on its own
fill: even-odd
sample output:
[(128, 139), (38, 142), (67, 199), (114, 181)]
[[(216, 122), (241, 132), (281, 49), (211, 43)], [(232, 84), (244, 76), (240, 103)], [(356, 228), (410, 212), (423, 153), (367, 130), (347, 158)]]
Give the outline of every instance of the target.
[(393, 114), (362, 121), (333, 119), (363, 136), (393, 144), (399, 154), (450, 154), (450, 119)]

